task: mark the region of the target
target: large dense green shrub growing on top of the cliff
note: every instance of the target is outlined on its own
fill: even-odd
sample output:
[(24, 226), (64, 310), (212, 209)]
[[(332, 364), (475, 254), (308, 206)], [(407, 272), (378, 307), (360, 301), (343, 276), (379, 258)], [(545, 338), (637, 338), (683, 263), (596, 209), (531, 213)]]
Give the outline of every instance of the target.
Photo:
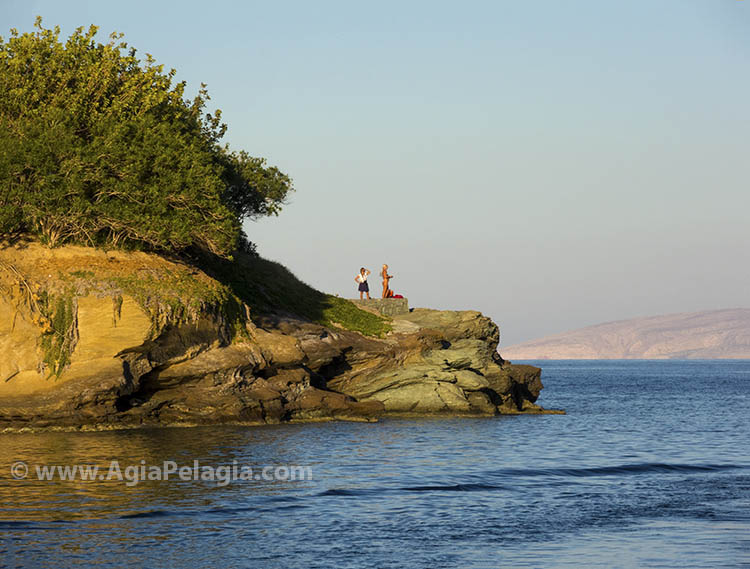
[(290, 178), (220, 145), (205, 85), (185, 99), (121, 34), (35, 27), (0, 38), (0, 234), (224, 255), (243, 219), (279, 212)]

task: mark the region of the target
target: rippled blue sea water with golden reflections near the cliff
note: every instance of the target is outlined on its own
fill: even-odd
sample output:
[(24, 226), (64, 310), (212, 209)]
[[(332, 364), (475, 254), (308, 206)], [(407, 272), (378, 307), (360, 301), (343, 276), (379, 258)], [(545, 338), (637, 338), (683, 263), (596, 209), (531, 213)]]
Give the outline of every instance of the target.
[[(538, 364), (567, 415), (0, 435), (0, 566), (750, 567), (750, 361)], [(313, 477), (9, 473), (112, 460)]]

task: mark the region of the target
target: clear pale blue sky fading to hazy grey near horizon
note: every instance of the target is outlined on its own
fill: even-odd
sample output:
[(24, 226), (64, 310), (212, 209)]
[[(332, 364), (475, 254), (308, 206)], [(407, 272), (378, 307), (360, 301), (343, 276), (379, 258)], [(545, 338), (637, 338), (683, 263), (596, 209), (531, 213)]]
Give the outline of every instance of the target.
[(750, 1), (0, 0), (0, 35), (123, 32), (294, 179), (246, 224), (356, 296), (475, 309), (501, 348), (750, 306)]

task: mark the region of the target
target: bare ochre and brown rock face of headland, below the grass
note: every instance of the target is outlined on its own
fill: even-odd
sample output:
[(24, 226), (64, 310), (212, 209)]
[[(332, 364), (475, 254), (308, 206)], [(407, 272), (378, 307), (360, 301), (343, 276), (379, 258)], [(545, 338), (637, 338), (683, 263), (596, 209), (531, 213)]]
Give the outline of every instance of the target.
[(142, 299), (88, 291), (72, 298), (74, 348), (50, 377), (39, 323), (6, 273), (0, 429), (544, 412), (534, 403), (541, 370), (503, 361), (497, 326), (471, 311), (416, 309), (394, 317), (385, 338), (257, 316), (228, 340), (220, 312), (154, 333)]

